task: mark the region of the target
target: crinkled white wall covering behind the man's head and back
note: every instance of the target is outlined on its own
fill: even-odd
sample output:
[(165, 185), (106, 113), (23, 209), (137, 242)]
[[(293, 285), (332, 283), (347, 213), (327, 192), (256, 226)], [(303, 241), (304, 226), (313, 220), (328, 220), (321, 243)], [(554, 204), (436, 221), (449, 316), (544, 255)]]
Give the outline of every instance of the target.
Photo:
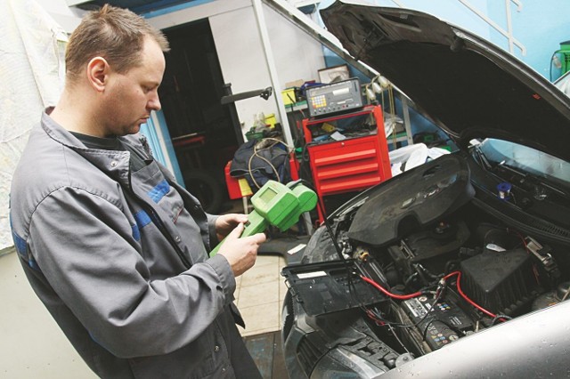
[(0, 250), (12, 246), (12, 174), (32, 126), (62, 88), (67, 36), (33, 0), (0, 0)]

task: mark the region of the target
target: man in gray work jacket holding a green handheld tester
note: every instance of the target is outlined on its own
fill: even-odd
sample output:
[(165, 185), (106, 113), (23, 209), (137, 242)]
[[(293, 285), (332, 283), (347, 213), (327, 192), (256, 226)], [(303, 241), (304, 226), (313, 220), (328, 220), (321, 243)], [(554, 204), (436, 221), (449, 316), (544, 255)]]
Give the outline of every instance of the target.
[(14, 174), (12, 236), (31, 286), (97, 375), (260, 377), (232, 300), (264, 234), (239, 238), (245, 215), (205, 214), (133, 135), (160, 109), (167, 50), (133, 12), (85, 15), (61, 100)]

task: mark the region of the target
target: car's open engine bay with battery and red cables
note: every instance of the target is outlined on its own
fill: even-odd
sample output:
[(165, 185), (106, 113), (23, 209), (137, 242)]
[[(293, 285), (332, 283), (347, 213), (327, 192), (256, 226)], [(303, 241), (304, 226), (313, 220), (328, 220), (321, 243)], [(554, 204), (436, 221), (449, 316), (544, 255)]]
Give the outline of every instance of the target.
[(469, 228), (463, 220), (352, 252), (359, 277), (387, 298), (367, 313), (373, 330), (415, 357), (566, 300), (570, 282), (561, 279), (552, 253), (509, 228), (489, 222)]

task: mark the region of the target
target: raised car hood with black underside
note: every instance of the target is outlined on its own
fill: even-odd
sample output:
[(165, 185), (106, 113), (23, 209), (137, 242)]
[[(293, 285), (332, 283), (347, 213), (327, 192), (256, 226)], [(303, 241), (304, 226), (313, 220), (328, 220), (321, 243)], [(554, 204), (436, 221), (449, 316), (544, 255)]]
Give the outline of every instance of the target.
[(570, 161), (570, 98), (508, 52), (423, 12), (337, 1), (321, 13), (460, 147), (493, 137)]

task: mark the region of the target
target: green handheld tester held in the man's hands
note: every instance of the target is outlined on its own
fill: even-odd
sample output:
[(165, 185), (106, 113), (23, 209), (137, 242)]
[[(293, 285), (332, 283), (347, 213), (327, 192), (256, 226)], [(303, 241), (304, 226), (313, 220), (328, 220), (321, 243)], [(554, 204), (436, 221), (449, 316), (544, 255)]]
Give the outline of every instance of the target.
[[(279, 181), (267, 181), (254, 196), (251, 197), (254, 211), (248, 214), (241, 237), (253, 236), (273, 225), (281, 231), (288, 230), (295, 225), (301, 214), (308, 212), (317, 204), (317, 195), (314, 190), (306, 188), (295, 181), (281, 184)], [(210, 256), (217, 254), (220, 242)]]

